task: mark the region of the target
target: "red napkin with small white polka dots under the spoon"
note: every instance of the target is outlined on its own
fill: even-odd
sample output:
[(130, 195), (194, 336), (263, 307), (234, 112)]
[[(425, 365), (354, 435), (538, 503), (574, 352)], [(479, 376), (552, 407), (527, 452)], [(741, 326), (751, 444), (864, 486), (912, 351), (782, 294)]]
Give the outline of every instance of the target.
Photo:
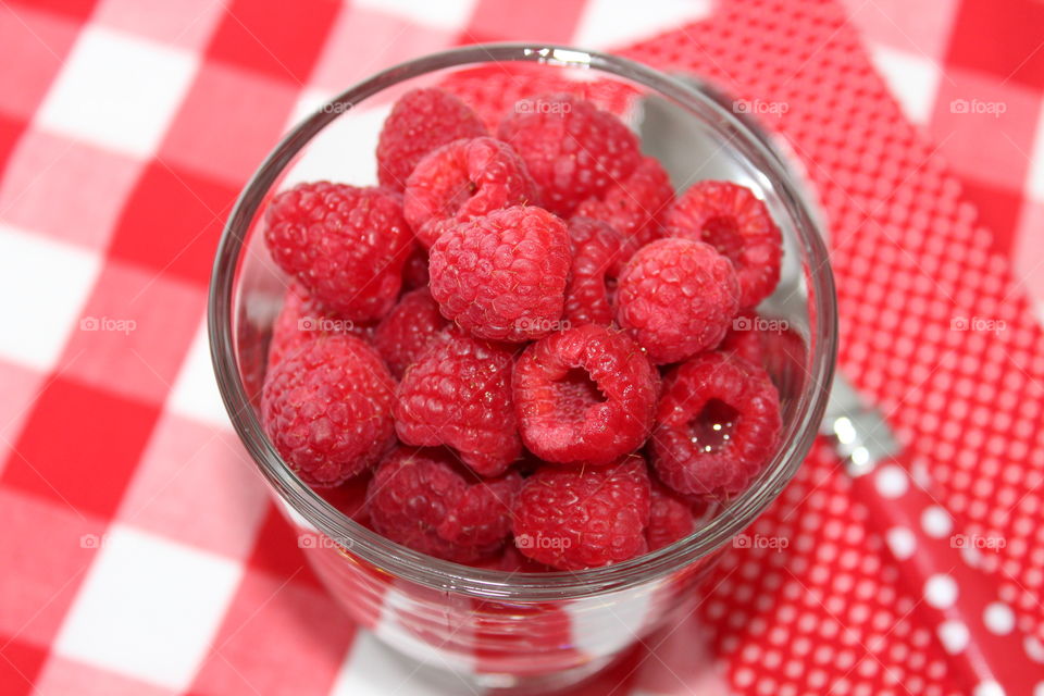
[[(703, 75), (737, 98), (787, 105), (763, 121), (804, 163), (830, 222), (840, 364), (909, 444), (911, 470), (934, 480), (967, 535), (962, 555), (978, 552), (1017, 626), (1032, 633), (1024, 643), (1044, 659), (1044, 337), (960, 185), (904, 120), (843, 12), (735, 0), (630, 54)], [(867, 518), (836, 460), (817, 446), (751, 530), (788, 546), (726, 554), (699, 618), (738, 692), (972, 692), (978, 682), (953, 673), (936, 626), (915, 609), (920, 588), (900, 584), (886, 530)], [(920, 538), (920, 525), (915, 518), (904, 526)], [(762, 606), (763, 596), (771, 601)], [(982, 611), (966, 619), (985, 630)], [(741, 673), (749, 674), (744, 685)]]

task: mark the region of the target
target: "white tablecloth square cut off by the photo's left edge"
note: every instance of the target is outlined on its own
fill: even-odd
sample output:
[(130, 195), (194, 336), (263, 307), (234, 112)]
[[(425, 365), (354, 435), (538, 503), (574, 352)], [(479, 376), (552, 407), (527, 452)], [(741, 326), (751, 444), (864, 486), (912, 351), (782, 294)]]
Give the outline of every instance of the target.
[(53, 368), (100, 265), (96, 253), (0, 224), (0, 356)]

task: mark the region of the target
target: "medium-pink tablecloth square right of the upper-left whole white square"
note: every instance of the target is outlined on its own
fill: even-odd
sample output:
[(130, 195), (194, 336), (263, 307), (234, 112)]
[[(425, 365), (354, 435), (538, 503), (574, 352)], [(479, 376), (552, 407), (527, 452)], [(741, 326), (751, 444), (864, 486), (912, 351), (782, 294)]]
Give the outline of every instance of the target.
[(160, 159), (241, 187), (278, 141), (297, 95), (284, 79), (204, 63), (160, 146)]

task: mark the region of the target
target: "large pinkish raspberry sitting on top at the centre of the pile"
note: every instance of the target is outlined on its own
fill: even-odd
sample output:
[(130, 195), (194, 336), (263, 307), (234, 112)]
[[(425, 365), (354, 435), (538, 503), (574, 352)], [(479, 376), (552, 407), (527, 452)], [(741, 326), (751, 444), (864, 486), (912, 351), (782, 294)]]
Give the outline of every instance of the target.
[(514, 206), (438, 238), (428, 265), (432, 297), (444, 316), (480, 338), (539, 338), (562, 316), (569, 266), (566, 223)]

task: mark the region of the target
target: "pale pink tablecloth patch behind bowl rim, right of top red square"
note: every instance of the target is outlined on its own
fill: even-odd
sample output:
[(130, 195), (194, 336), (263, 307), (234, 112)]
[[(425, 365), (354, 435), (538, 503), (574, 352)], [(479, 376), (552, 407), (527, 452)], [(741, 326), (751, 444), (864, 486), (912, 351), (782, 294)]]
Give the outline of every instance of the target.
[(399, 15), (347, 8), (334, 22), (309, 85), (343, 91), (378, 70), (446, 48), (453, 38)]

